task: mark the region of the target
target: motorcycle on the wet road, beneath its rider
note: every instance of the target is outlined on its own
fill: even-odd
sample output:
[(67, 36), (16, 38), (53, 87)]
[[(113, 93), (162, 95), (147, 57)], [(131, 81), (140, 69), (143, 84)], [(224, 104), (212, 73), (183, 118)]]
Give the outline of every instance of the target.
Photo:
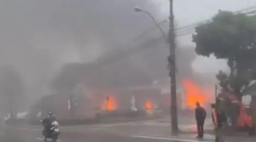
[(45, 129), (42, 131), (42, 136), (44, 137), (44, 141), (47, 142), (47, 139), (52, 139), (53, 142), (56, 142), (58, 139), (58, 135), (60, 134), (58, 129), (59, 123), (57, 121), (52, 122), (51, 128), (49, 132), (46, 132)]

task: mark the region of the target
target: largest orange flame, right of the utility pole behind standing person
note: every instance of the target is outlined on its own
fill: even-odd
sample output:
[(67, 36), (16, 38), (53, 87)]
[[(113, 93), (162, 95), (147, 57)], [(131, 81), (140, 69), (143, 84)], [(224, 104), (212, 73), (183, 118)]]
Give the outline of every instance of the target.
[(209, 101), (209, 96), (205, 94), (195, 82), (186, 79), (183, 80), (183, 86), (185, 89), (185, 101), (187, 107), (195, 108), (196, 102), (205, 105)]

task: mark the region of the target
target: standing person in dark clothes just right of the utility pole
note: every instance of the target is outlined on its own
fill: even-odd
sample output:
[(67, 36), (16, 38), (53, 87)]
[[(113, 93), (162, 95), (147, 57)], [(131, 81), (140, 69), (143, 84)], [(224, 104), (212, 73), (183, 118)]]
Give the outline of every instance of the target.
[(196, 121), (197, 121), (197, 133), (198, 133), (198, 138), (203, 138), (204, 136), (204, 120), (206, 118), (206, 111), (205, 109), (200, 106), (200, 103), (196, 103)]

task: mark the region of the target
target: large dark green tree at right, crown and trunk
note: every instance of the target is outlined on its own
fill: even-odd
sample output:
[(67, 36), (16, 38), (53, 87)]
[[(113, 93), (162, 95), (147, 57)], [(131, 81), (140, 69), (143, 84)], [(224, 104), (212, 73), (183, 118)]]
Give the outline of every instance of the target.
[(196, 53), (226, 59), (230, 68), (228, 84), (238, 98), (241, 88), (255, 73), (256, 16), (219, 11), (211, 21), (196, 27)]

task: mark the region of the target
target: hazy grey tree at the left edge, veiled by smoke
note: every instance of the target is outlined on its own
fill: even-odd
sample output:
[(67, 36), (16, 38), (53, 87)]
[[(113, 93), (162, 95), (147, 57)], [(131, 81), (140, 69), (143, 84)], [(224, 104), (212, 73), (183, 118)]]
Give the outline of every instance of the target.
[(2, 68), (0, 77), (1, 115), (10, 113), (10, 117), (15, 118), (24, 103), (24, 82), (19, 72), (10, 66)]

